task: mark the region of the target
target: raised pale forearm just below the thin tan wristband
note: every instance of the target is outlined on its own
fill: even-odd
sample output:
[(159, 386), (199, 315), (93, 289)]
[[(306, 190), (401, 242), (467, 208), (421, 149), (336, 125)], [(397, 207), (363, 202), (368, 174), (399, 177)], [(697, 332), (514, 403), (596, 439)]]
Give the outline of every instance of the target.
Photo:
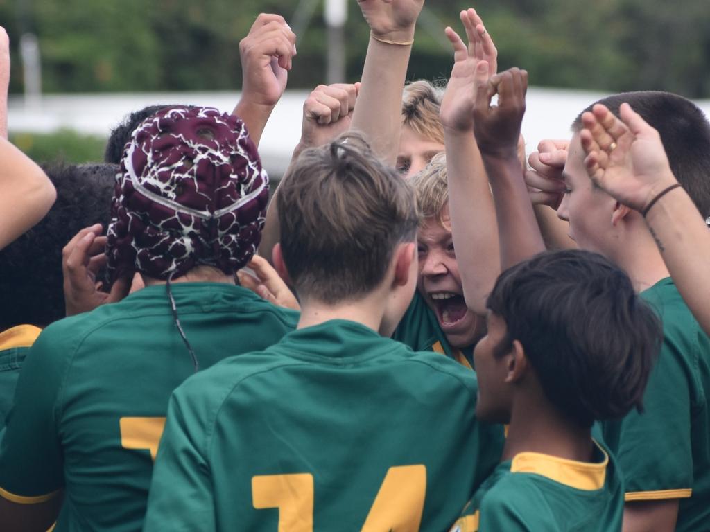
[[(414, 29), (411, 35), (414, 38)], [(353, 113), (351, 130), (363, 133), (373, 150), (390, 165), (397, 160), (402, 128), (402, 92), (411, 52), (411, 45), (381, 43), (370, 37), (362, 85)]]

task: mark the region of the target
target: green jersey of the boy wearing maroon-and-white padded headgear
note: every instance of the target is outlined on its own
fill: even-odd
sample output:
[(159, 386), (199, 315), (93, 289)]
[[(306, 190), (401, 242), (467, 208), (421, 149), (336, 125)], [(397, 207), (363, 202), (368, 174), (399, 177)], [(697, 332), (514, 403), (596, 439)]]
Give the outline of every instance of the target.
[[(266, 348), (298, 314), (247, 289), (173, 284), (200, 367)], [(165, 286), (53, 323), (31, 348), (0, 445), (0, 494), (64, 488), (55, 532), (138, 531), (173, 389), (195, 373)]]

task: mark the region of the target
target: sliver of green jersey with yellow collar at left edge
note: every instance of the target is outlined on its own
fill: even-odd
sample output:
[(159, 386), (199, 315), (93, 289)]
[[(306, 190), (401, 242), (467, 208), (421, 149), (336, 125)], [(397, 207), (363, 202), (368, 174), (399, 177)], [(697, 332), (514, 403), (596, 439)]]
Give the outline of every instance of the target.
[(0, 431), (15, 397), (22, 363), (41, 332), (42, 329), (33, 325), (19, 325), (0, 333)]

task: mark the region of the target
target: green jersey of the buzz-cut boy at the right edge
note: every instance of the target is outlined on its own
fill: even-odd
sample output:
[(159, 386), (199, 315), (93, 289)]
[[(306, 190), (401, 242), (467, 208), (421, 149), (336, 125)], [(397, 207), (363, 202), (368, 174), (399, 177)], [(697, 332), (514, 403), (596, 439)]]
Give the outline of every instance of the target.
[(643, 396), (643, 414), (602, 423), (618, 458), (627, 501), (680, 499), (677, 531), (710, 523), (710, 339), (672, 279), (641, 297), (663, 322), (663, 345)]

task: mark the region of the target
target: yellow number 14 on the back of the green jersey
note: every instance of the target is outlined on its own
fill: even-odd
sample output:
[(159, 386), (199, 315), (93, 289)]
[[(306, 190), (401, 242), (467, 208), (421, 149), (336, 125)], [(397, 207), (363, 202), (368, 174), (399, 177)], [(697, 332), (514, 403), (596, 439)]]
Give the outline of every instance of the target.
[[(278, 508), (278, 532), (313, 532), (313, 475), (260, 475), (251, 479), (256, 509)], [(418, 532), (427, 492), (424, 465), (390, 467), (362, 532)]]

